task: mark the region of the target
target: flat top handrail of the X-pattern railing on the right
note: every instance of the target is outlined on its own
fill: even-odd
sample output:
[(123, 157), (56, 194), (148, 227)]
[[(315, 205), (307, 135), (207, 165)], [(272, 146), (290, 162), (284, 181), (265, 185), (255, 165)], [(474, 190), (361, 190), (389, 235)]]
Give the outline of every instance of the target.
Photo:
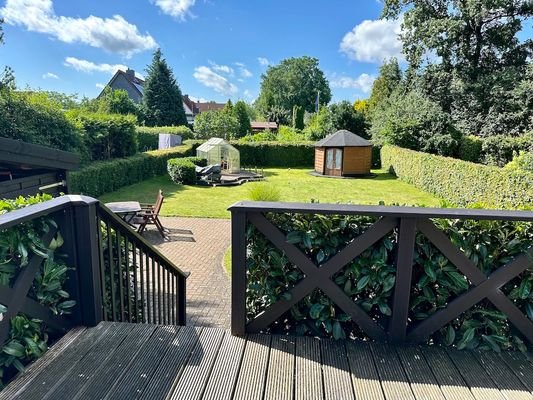
[(346, 214), (412, 218), (460, 218), (475, 220), (533, 221), (532, 211), (481, 210), (465, 208), (430, 208), (404, 206), (372, 206), (354, 204), (290, 203), (239, 201), (228, 208), (231, 212), (276, 212), (297, 214)]

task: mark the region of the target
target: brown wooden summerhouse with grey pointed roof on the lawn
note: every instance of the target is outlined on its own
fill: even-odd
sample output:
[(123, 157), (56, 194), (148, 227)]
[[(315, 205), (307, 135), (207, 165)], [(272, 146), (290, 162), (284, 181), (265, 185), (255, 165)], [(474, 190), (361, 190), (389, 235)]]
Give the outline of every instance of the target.
[(370, 173), (372, 143), (347, 130), (340, 130), (315, 144), (315, 172), (330, 176)]

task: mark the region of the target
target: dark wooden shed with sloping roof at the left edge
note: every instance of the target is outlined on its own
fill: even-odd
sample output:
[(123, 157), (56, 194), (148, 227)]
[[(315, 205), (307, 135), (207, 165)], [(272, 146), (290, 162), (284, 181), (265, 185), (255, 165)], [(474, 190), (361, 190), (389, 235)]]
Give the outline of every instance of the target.
[(79, 163), (75, 153), (0, 137), (0, 199), (68, 193), (67, 171)]

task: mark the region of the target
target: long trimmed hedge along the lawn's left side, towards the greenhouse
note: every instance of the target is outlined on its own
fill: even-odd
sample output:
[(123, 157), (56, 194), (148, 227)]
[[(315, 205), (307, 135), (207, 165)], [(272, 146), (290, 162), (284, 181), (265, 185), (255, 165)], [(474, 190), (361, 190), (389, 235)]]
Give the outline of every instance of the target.
[(171, 158), (191, 155), (192, 146), (183, 145), (168, 150), (147, 151), (127, 158), (96, 162), (69, 173), (71, 193), (98, 197), (121, 187), (132, 185), (167, 172)]

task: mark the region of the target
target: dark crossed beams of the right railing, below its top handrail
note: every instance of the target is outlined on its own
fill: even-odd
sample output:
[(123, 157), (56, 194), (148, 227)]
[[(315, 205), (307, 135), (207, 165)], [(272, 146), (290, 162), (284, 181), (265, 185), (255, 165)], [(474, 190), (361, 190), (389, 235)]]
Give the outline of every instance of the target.
[[(283, 212), (289, 212), (289, 209), (283, 210)], [(314, 290), (319, 289), (329, 296), (340, 309), (351, 317), (353, 322), (358, 324), (373, 339), (397, 343), (423, 341), (478, 302), (488, 299), (507, 316), (508, 320), (527, 340), (533, 343), (533, 322), (500, 290), (502, 286), (533, 265), (533, 248), (486, 276), (460, 248), (452, 243), (443, 231), (435, 226), (430, 219), (431, 216), (423, 214), (417, 216), (407, 210), (409, 212), (406, 213), (405, 217), (398, 215), (396, 211), (393, 215), (382, 216), (364, 233), (355, 237), (344, 249), (340, 250), (324, 264), (317, 266), (301, 249), (289, 243), (286, 235), (270, 222), (261, 211), (268, 212), (269, 210), (253, 209), (247, 210), (245, 213), (234, 214), (235, 221), (238, 221), (238, 224), (234, 225), (233, 231), (234, 236), (238, 236), (238, 240), (235, 243), (246, 246), (244, 232), (241, 231), (244, 230), (247, 221), (278, 250), (282, 251), (287, 259), (304, 274), (304, 277), (291, 289), (288, 289), (288, 295), (268, 305), (265, 310), (254, 316), (249, 322), (246, 323), (245, 320), (233, 316), (232, 321), (236, 322), (235, 326), (232, 327), (234, 333), (258, 332), (267, 329), (284, 313), (289, 311), (291, 307), (310, 295)], [(331, 213), (330, 211), (328, 209), (327, 213)], [(368, 213), (368, 210), (365, 209), (365, 212)], [(468, 218), (465, 216), (464, 219)], [(388, 326), (384, 328), (355, 304), (353, 299), (345, 294), (331, 278), (394, 229), (398, 229), (399, 232), (397, 253), (395, 255), (396, 283), (392, 303), (392, 316)], [(410, 322), (409, 297), (414, 284), (412, 275), (417, 232), (429, 239), (440, 253), (460, 273), (466, 276), (472, 285), (467, 291), (451, 300), (445, 308), (435, 312), (427, 319), (421, 322)], [(241, 254), (235, 249), (233, 254), (236, 256), (234, 259), (240, 260), (240, 264), (244, 266), (245, 254)], [(244, 276), (241, 277), (239, 274), (234, 276), (239, 279), (241, 284), (245, 284)], [(235, 288), (233, 293), (234, 299), (243, 300)], [(236, 309), (244, 311), (244, 300), (242, 302), (235, 301), (235, 303), (236, 307), (232, 312), (235, 312)], [(242, 328), (238, 326), (240, 323), (243, 324)]]

